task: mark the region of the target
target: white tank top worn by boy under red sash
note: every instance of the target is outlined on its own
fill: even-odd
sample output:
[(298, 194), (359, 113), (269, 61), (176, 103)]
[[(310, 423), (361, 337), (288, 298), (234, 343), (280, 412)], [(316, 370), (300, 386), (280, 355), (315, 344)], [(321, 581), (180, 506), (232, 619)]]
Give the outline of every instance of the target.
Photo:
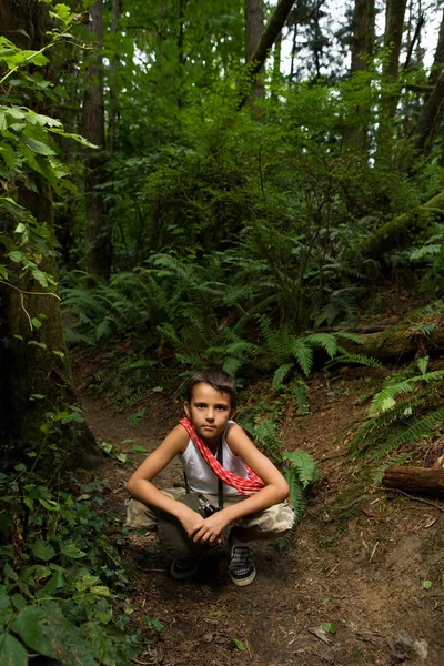
[[(229, 470), (242, 478), (248, 478), (245, 463), (241, 457), (234, 455), (230, 446), (226, 444), (226, 431), (234, 421), (229, 421), (222, 435), (222, 465), (225, 470)], [(182, 463), (184, 473), (186, 474), (189, 486), (195, 493), (203, 493), (204, 495), (218, 495), (218, 476), (208, 466), (198, 448), (193, 444), (193, 441), (189, 440), (184, 453), (179, 455), (179, 460)], [(233, 486), (222, 483), (224, 495), (236, 495), (239, 491)]]

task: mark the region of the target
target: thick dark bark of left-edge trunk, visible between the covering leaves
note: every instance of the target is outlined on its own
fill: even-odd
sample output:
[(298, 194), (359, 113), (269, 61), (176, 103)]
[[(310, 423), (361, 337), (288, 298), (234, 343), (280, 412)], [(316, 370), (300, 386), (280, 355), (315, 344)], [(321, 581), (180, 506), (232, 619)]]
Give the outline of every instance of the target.
[[(20, 48), (38, 50), (44, 46), (50, 29), (48, 8), (38, 1), (18, 6), (13, 0), (3, 1), (0, 23), (8, 37), (17, 37)], [(28, 38), (27, 36), (32, 36)], [(50, 53), (48, 53), (50, 56)], [(42, 71), (42, 70), (40, 70)], [(42, 102), (34, 110), (47, 113)], [(52, 192), (43, 178), (34, 176), (32, 190), (17, 179), (19, 203), (36, 220), (53, 226)], [(4, 218), (6, 224), (11, 224)], [(57, 276), (53, 248), (49, 253), (37, 255), (34, 261), (41, 271)], [(0, 250), (0, 263), (8, 259)], [(71, 369), (64, 343), (60, 301), (54, 293), (46, 293), (39, 282), (27, 272), (10, 268), (8, 281), (0, 281), (0, 438), (9, 448), (3, 456), (20, 457), (22, 447), (37, 448), (41, 442), (57, 442), (61, 462), (71, 466), (97, 464), (98, 448), (93, 436), (83, 423), (68, 422), (60, 428), (53, 417), (46, 413), (67, 412), (78, 403), (72, 385)], [(68, 420), (69, 421), (69, 420)], [(60, 424), (60, 423), (59, 423)], [(41, 426), (48, 426), (43, 434)], [(54, 472), (54, 452), (51, 455), (51, 473)]]

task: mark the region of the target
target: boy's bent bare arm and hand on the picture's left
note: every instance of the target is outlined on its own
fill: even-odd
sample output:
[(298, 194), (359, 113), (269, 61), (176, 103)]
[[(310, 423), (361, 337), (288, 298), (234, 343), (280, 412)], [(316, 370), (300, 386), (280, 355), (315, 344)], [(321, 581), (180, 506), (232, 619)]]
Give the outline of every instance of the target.
[(181, 502), (164, 495), (151, 483), (168, 463), (185, 451), (188, 442), (186, 431), (182, 425), (176, 425), (163, 440), (162, 444), (135, 470), (127, 483), (127, 490), (139, 502), (175, 516), (191, 536), (203, 522), (202, 516)]

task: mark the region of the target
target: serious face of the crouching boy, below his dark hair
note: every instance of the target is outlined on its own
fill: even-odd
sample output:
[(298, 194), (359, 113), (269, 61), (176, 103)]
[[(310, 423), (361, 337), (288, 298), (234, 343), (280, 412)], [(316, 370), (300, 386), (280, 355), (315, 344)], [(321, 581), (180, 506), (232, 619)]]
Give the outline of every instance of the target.
[(218, 444), (233, 414), (230, 395), (201, 382), (194, 386), (191, 402), (185, 402), (184, 406), (198, 435), (209, 444)]

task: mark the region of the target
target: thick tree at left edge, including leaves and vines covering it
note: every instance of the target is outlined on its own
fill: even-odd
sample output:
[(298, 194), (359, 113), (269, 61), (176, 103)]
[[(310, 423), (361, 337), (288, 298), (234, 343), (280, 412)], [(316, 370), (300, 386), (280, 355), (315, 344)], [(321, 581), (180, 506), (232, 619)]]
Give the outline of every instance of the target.
[[(56, 16), (54, 11), (52, 16)], [(16, 46), (10, 49), (12, 61), (18, 58), (20, 62), (20, 51), (14, 56), (18, 47), (26, 49), (28, 58), (32, 52), (39, 53), (31, 58), (36, 58), (36, 65), (48, 63), (43, 56), (52, 28), (48, 4), (31, 0), (26, 6), (18, 6), (13, 0), (6, 0), (1, 3), (0, 22), (2, 30), (14, 38)], [(8, 63), (4, 44), (0, 61)], [(51, 73), (54, 78), (60, 75), (60, 72), (51, 72), (49, 64), (48, 77)], [(56, 293), (52, 244), (52, 188), (58, 188), (65, 171), (54, 158), (57, 145), (49, 137), (49, 129), (56, 127), (63, 132), (60, 123), (47, 115), (53, 95), (32, 94), (42, 81), (33, 74), (32, 69), (21, 71), (19, 68), (14, 73), (13, 94), (10, 94), (12, 88), (8, 74), (3, 75), (0, 87), (2, 149), (3, 154), (9, 154), (8, 170), (3, 170), (0, 188), (3, 213), (0, 231), (0, 436), (18, 451), (23, 446), (37, 447), (42, 438), (51, 443), (52, 427), (56, 428), (51, 426), (51, 418), (54, 424), (60, 417), (58, 414), (63, 413), (67, 427), (61, 448), (65, 457), (82, 464), (97, 455), (97, 448), (85, 426), (74, 423), (81, 418), (72, 407), (77, 396)], [(47, 88), (51, 89), (49, 80), (43, 90)], [(33, 103), (32, 111), (27, 109), (30, 102)], [(46, 412), (48, 414), (43, 416)]]

